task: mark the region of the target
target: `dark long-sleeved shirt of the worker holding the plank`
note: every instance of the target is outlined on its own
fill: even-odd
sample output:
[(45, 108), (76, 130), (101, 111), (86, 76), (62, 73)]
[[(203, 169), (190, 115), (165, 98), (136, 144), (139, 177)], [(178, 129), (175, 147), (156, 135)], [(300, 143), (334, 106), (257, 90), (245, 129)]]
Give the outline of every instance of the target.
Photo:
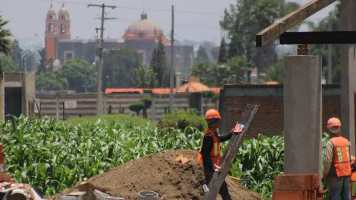
[[(214, 134), (218, 138), (219, 142), (225, 142), (230, 140), (232, 136), (232, 131), (220, 136), (218, 135), (218, 133), (216, 133), (216, 131), (214, 132)], [(214, 168), (213, 168), (214, 163), (213, 160), (211, 160), (210, 158), (210, 152), (211, 149), (213, 149), (213, 145), (214, 145), (213, 135), (209, 133), (204, 137), (203, 146), (201, 147), (201, 151), (200, 151), (201, 156), (203, 157), (204, 173), (214, 172)]]

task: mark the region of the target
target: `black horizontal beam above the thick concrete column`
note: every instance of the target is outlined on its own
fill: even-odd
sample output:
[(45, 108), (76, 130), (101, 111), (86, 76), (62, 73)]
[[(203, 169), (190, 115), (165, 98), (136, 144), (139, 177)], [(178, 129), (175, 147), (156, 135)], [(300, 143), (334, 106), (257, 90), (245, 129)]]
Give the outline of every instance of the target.
[(285, 32), (279, 44), (356, 44), (356, 31)]

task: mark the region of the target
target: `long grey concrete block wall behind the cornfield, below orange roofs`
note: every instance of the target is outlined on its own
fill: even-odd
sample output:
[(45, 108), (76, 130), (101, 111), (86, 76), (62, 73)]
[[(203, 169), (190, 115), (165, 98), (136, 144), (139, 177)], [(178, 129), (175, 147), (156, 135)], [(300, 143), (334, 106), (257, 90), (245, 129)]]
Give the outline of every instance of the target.
[[(59, 119), (63, 119), (63, 102), (77, 101), (77, 109), (65, 109), (65, 117), (95, 117), (96, 116), (96, 94), (59, 94)], [(147, 110), (148, 118), (152, 120), (162, 119), (164, 116), (164, 107), (168, 108), (168, 94), (108, 94), (103, 95), (103, 113), (107, 114), (111, 105), (112, 114), (119, 114), (120, 108), (124, 108), (124, 114), (130, 114), (129, 105), (139, 101), (144, 97), (151, 97), (153, 104), (151, 109)], [(56, 117), (56, 95), (36, 95), (41, 101), (41, 112), (46, 116)], [(189, 109), (189, 94), (175, 94), (173, 107), (179, 111)], [(154, 113), (154, 115), (152, 115)], [(142, 116), (142, 111), (139, 116)]]

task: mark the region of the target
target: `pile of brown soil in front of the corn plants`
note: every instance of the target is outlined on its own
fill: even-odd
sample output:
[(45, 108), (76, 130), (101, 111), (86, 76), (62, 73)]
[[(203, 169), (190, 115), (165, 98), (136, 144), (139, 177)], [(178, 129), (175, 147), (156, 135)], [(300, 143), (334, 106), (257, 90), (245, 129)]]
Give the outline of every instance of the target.
[[(190, 162), (184, 165), (176, 162), (175, 158), (180, 155)], [(140, 191), (150, 190), (156, 191), (160, 200), (201, 200), (205, 179), (203, 167), (196, 164), (196, 159), (197, 152), (191, 150), (157, 153), (122, 164), (86, 181), (111, 196), (125, 199), (138, 199)], [(226, 182), (232, 199), (262, 200), (260, 194), (247, 190), (236, 180), (227, 177)], [(61, 195), (78, 191), (77, 186), (62, 191)], [(58, 197), (45, 199), (57, 200)], [(221, 200), (220, 195), (217, 199)]]

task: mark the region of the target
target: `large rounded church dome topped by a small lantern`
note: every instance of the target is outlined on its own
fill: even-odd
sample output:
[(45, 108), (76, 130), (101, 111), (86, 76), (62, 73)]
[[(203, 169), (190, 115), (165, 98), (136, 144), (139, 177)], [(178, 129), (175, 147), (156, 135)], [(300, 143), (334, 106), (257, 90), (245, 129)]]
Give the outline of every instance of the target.
[(161, 32), (161, 28), (159, 26), (147, 19), (147, 14), (144, 12), (141, 14), (141, 20), (133, 22), (129, 28), (127, 29), (131, 34), (139, 34), (145, 32), (146, 36), (156, 35), (157, 32)]

